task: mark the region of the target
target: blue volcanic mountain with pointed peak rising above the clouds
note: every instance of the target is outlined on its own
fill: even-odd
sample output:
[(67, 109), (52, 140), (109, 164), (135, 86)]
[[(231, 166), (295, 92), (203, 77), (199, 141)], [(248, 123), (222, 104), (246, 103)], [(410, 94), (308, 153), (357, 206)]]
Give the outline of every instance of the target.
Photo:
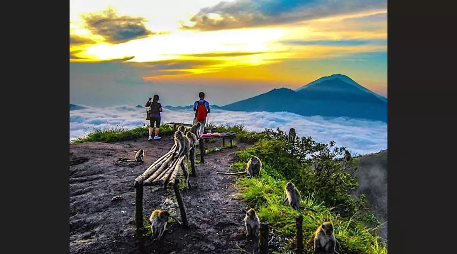
[(275, 88), (257, 96), (222, 106), (221, 109), (247, 112), (291, 112), (303, 116), (350, 117), (387, 122), (387, 99), (385, 98), (384, 102), (383, 99), (380, 99), (379, 94), (355, 81), (346, 82), (341, 79), (343, 76), (336, 74), (323, 77), (320, 81), (315, 80), (296, 90), (285, 87)]

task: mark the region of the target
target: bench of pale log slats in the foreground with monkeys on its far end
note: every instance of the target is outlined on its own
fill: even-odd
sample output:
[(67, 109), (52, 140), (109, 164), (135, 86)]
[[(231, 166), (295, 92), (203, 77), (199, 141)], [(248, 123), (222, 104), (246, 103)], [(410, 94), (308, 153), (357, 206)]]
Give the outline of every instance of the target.
[[(154, 163), (151, 164), (140, 176), (135, 179), (135, 222), (137, 231), (140, 231), (143, 227), (143, 186), (153, 186), (153, 185), (162, 185), (165, 188), (172, 185), (176, 200), (178, 201), (179, 210), (181, 212), (181, 219), (183, 226), (187, 227), (188, 221), (186, 216), (186, 211), (184, 208), (184, 203), (179, 193), (179, 179), (178, 172), (179, 169), (184, 173), (186, 182), (191, 186), (188, 179), (188, 175), (197, 176), (195, 173), (195, 147), (191, 147), (189, 150), (190, 157), (190, 166), (191, 173), (187, 174), (184, 167), (184, 158), (186, 155), (180, 157), (175, 156), (176, 144), (170, 149), (169, 152), (158, 158)], [(187, 169), (189, 170), (189, 169)]]

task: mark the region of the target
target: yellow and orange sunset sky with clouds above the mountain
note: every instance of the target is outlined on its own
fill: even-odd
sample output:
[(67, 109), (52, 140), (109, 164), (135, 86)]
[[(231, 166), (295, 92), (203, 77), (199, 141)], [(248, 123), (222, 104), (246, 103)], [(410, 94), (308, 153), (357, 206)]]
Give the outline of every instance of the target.
[(70, 103), (222, 106), (337, 73), (387, 97), (386, 0), (70, 0)]

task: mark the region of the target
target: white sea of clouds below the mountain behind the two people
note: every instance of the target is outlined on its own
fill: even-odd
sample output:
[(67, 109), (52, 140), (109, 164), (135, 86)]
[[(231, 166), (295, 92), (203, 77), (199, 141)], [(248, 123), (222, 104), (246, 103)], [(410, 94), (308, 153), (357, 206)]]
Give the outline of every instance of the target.
[[(144, 108), (117, 106), (70, 111), (70, 141), (87, 135), (93, 128), (105, 129), (122, 126), (125, 129), (148, 124)], [(165, 109), (162, 123), (192, 123), (193, 111)], [(387, 149), (387, 124), (381, 121), (351, 119), (345, 117), (328, 118), (321, 116), (301, 116), (288, 112), (235, 112), (212, 109), (208, 122), (242, 123), (250, 131), (265, 128), (281, 128), (288, 131), (295, 128), (298, 136), (311, 136), (317, 142), (329, 143), (335, 140), (337, 146), (345, 146), (354, 154), (366, 154)]]

